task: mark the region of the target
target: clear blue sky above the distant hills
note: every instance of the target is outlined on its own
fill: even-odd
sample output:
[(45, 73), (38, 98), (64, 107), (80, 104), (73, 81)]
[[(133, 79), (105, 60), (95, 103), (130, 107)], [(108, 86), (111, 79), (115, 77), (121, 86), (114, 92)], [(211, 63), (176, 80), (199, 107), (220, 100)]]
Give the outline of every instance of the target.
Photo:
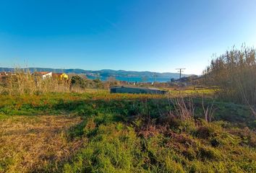
[(0, 1), (0, 66), (201, 74), (256, 45), (255, 0)]

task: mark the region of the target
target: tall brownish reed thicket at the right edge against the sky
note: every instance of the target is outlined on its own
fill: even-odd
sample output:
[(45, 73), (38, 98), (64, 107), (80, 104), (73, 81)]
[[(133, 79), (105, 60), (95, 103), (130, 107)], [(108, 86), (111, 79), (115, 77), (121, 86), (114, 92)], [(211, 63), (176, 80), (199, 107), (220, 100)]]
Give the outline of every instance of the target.
[(206, 84), (218, 86), (217, 92), (223, 99), (243, 104), (256, 102), (255, 49), (226, 51), (211, 61), (204, 71)]

